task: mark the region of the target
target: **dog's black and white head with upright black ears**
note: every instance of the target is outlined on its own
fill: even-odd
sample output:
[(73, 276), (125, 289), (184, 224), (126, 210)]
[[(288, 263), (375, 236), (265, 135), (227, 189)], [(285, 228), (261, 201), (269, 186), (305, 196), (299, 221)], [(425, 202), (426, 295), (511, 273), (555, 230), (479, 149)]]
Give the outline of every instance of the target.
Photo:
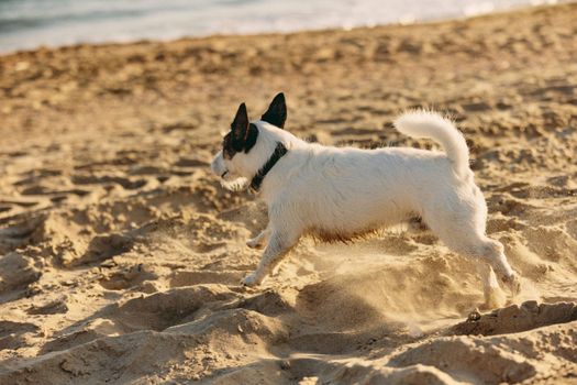
[[(233, 191), (248, 187), (251, 179), (270, 157), (278, 143), (278, 132), (287, 120), (285, 95), (278, 94), (259, 120), (249, 121), (245, 103), (236, 111), (231, 131), (222, 140), (222, 150), (214, 155), (212, 172), (222, 185)], [(268, 124), (266, 124), (268, 123)]]

